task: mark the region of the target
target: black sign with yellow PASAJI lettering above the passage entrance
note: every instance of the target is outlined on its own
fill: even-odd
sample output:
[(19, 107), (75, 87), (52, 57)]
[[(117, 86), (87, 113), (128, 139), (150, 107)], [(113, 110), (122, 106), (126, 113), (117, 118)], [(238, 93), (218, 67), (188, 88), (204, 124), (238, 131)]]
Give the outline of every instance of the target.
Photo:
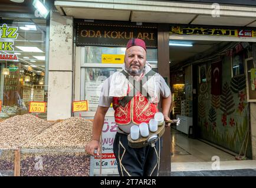
[(172, 26), (170, 33), (179, 35), (256, 37), (256, 31), (251, 29), (198, 28), (191, 26)]

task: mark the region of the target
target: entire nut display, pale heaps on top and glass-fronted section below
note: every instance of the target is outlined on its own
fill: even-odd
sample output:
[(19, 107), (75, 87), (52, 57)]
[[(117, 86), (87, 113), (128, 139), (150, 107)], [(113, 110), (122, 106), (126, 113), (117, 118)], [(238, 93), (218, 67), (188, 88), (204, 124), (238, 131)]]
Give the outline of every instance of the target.
[(89, 176), (92, 122), (17, 115), (0, 122), (0, 172), (6, 176)]

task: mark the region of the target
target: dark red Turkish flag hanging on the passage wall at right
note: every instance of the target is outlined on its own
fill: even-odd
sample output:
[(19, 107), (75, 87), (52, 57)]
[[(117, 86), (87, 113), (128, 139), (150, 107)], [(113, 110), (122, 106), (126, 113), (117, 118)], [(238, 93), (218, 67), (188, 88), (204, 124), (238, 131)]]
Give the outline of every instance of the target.
[(211, 94), (221, 95), (222, 61), (211, 64)]

